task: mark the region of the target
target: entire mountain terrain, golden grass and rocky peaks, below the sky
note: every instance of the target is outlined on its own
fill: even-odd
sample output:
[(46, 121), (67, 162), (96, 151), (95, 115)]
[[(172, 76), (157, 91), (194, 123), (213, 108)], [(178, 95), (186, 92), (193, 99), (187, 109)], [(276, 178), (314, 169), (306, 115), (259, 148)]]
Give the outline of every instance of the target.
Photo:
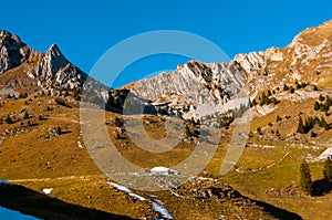
[[(112, 90), (86, 81), (56, 44), (42, 53), (0, 31), (0, 178), (13, 182), (0, 186), (1, 206), (31, 214), (43, 210), (42, 218), (58, 218), (52, 212), (56, 206), (73, 218), (85, 214), (70, 210), (83, 210), (87, 219), (87, 213), (120, 219), (326, 219), (332, 211), (322, 205), (332, 202), (332, 195), (320, 155), (332, 144), (331, 35), (328, 21), (299, 33), (283, 49), (238, 54), (226, 63), (189, 61), (172, 73)], [(107, 144), (95, 129), (89, 134), (93, 146), (87, 146), (80, 122), (80, 109), (90, 106), (80, 104), (101, 101), (106, 103), (104, 124), (112, 143), (143, 170), (126, 178), (174, 167), (196, 148), (205, 153), (201, 144), (209, 133), (200, 123), (220, 130), (216, 154), (198, 177), (169, 190), (146, 192), (112, 182), (91, 159)], [(146, 114), (138, 117), (139, 111)], [(148, 151), (133, 140), (135, 134), (127, 134), (122, 113), (136, 121), (134, 132), (144, 128), (156, 140), (167, 135), (165, 122), (180, 118), (185, 129), (175, 130), (170, 138), (178, 144), (169, 151)], [(220, 175), (238, 122), (250, 122), (248, 140), (234, 168)], [(136, 136), (153, 144), (141, 133)], [(300, 189), (302, 160), (309, 163), (315, 197)], [(167, 179), (160, 175), (158, 184), (167, 185)], [(44, 189), (52, 190), (46, 195)], [(23, 206), (30, 201), (35, 210)]]

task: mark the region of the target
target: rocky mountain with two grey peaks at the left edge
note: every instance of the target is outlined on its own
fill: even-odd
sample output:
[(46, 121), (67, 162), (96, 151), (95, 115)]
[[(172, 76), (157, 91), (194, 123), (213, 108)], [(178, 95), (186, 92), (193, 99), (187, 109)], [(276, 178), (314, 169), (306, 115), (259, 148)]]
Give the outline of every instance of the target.
[[(41, 53), (8, 31), (1, 31), (0, 39), (0, 74), (2, 86), (7, 88), (18, 90), (28, 85), (56, 95), (62, 88), (82, 87), (86, 80), (87, 75), (69, 62), (56, 44)], [(10, 80), (3, 76), (6, 74), (10, 74)]]

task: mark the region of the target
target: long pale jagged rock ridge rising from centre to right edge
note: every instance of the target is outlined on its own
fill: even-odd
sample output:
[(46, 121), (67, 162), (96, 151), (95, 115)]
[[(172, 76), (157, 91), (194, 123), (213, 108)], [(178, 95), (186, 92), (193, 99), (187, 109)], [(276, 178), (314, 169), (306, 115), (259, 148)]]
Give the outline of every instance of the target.
[[(307, 29), (283, 49), (238, 54), (229, 63), (189, 61), (172, 73), (138, 81), (129, 86), (136, 96), (173, 105), (222, 104), (245, 91), (282, 88), (283, 84), (332, 82), (332, 21)], [(243, 90), (245, 88), (245, 90)]]

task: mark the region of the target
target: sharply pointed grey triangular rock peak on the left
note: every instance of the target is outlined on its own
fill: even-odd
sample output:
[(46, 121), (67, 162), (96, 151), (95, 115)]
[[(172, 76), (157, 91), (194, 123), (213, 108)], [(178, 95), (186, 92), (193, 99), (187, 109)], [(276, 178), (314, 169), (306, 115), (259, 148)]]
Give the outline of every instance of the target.
[(41, 62), (29, 72), (43, 88), (81, 87), (86, 74), (70, 63), (56, 44), (52, 44)]

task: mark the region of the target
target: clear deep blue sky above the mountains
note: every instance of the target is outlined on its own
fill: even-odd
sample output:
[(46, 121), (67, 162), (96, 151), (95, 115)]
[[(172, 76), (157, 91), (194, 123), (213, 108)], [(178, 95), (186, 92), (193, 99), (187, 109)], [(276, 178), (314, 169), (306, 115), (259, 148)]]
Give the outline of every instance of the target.
[[(72, 63), (89, 73), (107, 49), (142, 32), (188, 31), (212, 41), (234, 57), (272, 45), (284, 46), (303, 29), (331, 20), (331, 10), (330, 0), (2, 1), (0, 29), (19, 34), (39, 51), (56, 43)], [(144, 69), (169, 70), (186, 62), (178, 57), (168, 59), (166, 64), (152, 60), (153, 65), (145, 62), (132, 67), (118, 85), (139, 78)]]

